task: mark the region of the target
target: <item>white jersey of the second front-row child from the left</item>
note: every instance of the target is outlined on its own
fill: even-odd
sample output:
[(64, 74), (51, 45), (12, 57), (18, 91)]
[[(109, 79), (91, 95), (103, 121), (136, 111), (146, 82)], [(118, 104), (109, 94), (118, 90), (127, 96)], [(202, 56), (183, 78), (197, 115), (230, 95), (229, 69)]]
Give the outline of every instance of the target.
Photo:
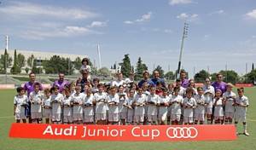
[(40, 92), (36, 93), (33, 91), (29, 95), (31, 101), (31, 113), (41, 113), (42, 112), (42, 101), (43, 96)]

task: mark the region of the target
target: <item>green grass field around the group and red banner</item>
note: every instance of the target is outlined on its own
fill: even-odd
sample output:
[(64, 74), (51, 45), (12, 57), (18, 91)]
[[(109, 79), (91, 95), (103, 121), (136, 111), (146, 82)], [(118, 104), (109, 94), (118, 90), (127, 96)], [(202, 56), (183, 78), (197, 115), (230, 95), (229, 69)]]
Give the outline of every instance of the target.
[[(239, 136), (236, 141), (192, 141), (192, 142), (125, 142), (125, 141), (61, 141), (9, 138), (13, 116), (13, 97), (15, 90), (0, 90), (0, 149), (1, 150), (66, 150), (66, 149), (256, 149), (256, 88), (247, 88), (250, 107), (247, 110), (247, 128), (250, 136)], [(241, 130), (241, 124), (239, 125)]]

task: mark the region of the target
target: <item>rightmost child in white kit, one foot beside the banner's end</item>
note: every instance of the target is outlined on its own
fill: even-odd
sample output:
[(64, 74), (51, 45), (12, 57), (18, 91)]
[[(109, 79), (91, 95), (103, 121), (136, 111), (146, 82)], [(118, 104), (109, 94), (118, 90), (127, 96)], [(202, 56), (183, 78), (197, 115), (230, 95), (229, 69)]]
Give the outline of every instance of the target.
[(241, 121), (243, 125), (243, 134), (249, 136), (247, 132), (247, 107), (249, 106), (249, 101), (247, 96), (244, 95), (244, 89), (237, 89), (238, 96), (236, 97), (235, 102), (235, 125), (237, 126), (238, 122)]

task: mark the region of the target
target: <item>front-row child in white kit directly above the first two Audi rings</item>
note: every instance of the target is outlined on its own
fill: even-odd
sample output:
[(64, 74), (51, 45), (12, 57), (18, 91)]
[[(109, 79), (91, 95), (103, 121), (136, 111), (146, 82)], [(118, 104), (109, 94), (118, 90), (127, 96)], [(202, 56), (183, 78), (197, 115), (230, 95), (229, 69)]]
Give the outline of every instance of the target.
[(173, 95), (171, 97), (170, 105), (171, 105), (171, 120), (173, 125), (177, 125), (180, 122), (180, 116), (181, 116), (181, 108), (183, 103), (183, 96), (178, 95), (179, 88), (175, 87), (173, 89)]

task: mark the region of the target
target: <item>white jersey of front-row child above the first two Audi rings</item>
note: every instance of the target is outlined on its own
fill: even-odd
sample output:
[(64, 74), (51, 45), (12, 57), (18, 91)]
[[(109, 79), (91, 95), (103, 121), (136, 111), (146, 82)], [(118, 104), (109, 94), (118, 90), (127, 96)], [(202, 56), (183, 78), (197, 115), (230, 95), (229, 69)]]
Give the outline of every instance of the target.
[(183, 97), (181, 95), (172, 95), (172, 98), (171, 98), (172, 114), (181, 114), (182, 103), (183, 103)]

